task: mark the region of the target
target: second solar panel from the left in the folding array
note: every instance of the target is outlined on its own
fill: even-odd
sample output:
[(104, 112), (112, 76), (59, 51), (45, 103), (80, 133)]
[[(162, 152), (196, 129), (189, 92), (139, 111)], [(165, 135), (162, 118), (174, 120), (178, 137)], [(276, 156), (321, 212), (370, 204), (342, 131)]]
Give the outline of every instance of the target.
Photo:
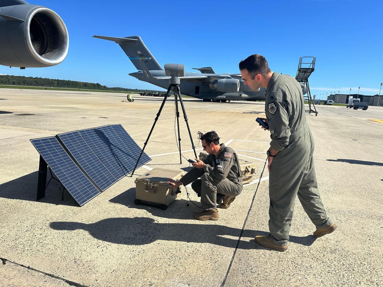
[(69, 150), (85, 173), (88, 174), (102, 191), (117, 181), (115, 176), (111, 174), (101, 160), (95, 155), (77, 130), (59, 134), (57, 136), (61, 139), (65, 147)]

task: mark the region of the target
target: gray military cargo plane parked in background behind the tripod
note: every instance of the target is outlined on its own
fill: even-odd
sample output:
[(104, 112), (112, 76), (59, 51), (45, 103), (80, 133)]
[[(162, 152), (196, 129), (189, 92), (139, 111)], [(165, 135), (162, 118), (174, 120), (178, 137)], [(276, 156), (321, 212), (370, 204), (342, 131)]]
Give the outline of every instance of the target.
[[(139, 70), (130, 73), (130, 76), (164, 89), (169, 87), (169, 80), (157, 79), (157, 77), (165, 76), (165, 70), (158, 64), (139, 36), (115, 38), (95, 35), (93, 37), (119, 44), (134, 67)], [(248, 86), (244, 85), (241, 74), (216, 74), (212, 67), (193, 69), (199, 70), (201, 74), (185, 73), (185, 78), (180, 83), (180, 90), (184, 95), (208, 102), (265, 100), (266, 89), (260, 88), (258, 91), (251, 91)]]

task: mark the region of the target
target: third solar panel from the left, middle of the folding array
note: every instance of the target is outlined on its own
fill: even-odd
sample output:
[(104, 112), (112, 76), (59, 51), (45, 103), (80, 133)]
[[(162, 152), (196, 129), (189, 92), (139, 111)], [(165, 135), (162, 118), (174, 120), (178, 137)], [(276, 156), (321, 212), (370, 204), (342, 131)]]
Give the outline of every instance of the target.
[(110, 150), (108, 145), (106, 145), (96, 129), (79, 130), (79, 133), (117, 180), (129, 173), (123, 163), (118, 159), (117, 155)]

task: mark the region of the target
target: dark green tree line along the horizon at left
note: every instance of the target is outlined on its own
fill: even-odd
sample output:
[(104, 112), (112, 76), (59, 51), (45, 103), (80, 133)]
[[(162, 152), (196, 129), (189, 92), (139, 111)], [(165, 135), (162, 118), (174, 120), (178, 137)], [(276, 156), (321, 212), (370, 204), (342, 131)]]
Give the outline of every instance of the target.
[[(128, 89), (120, 87), (107, 87), (99, 83), (87, 83), (70, 80), (58, 80), (49, 78), (34, 78), (25, 76), (0, 75), (0, 85), (10, 86), (39, 86), (47, 88), (72, 88), (85, 90), (108, 90), (108, 91), (124, 91), (124, 92), (142, 92), (144, 90)], [(145, 90), (155, 91), (155, 90)]]

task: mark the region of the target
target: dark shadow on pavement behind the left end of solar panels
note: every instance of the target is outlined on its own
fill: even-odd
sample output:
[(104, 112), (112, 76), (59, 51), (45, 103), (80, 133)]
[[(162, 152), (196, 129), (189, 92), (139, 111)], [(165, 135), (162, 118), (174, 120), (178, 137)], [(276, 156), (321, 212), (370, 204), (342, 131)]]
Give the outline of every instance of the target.
[[(25, 176), (21, 176), (20, 178), (8, 181), (7, 183), (0, 184), (0, 197), (36, 201), (38, 174), (39, 172), (35, 171), (33, 173), (26, 174)], [(47, 183), (50, 177), (50, 175), (47, 176)], [(56, 205), (79, 206), (67, 191), (64, 192), (64, 201), (62, 201), (62, 191), (59, 190), (59, 186), (60, 184), (52, 179), (45, 191), (45, 197), (40, 199), (38, 202)]]

